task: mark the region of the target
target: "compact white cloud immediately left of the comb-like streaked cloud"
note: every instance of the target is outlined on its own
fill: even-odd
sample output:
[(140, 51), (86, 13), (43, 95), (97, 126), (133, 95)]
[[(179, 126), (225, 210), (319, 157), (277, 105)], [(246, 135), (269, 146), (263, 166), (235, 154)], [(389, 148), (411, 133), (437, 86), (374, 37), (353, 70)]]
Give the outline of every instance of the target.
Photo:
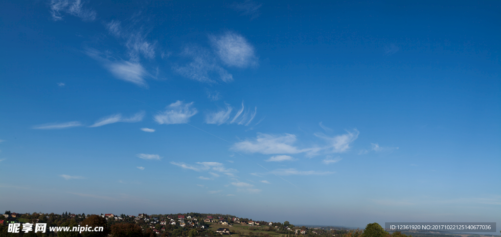
[(156, 114), (153, 118), (158, 124), (187, 123), (189, 118), (198, 112), (196, 108), (192, 107), (193, 103), (177, 100), (169, 104), (165, 111)]

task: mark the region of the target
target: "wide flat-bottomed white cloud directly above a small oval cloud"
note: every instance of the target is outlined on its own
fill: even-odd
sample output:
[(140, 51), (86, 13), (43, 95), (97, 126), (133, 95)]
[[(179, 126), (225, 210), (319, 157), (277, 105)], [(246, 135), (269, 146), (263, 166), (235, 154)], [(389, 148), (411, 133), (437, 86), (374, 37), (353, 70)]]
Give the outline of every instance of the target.
[(231, 146), (231, 149), (262, 154), (295, 154), (307, 151), (307, 149), (299, 149), (294, 146), (296, 140), (296, 135), (293, 134), (273, 135), (258, 132), (256, 140), (236, 142)]

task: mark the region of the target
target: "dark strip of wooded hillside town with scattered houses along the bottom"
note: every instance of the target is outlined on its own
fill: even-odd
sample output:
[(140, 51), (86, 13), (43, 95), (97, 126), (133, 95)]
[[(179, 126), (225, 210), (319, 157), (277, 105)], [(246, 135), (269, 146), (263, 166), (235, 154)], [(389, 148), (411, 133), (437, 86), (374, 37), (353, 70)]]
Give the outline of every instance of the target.
[[(46, 231), (29, 231), (24, 226), (44, 223)], [(12, 232), (13, 225), (20, 226)], [(11, 229), (9, 229), (9, 225)], [(72, 228), (101, 227), (99, 231), (71, 231)], [(64, 228), (66, 227), (66, 228)], [(30, 229), (31, 230), (31, 229)], [(68, 231), (65, 231), (68, 230)], [(220, 236), (233, 237), (473, 237), (493, 236), (477, 234), (441, 234), (441, 233), (405, 233), (387, 232), (378, 223), (367, 224), (365, 231), (334, 226), (296, 226), (289, 221), (273, 222), (253, 220), (228, 214), (176, 213), (137, 215), (101, 213), (77, 214), (56, 213), (17, 213), (6, 211), (0, 215), (0, 236), (113, 236), (113, 237), (163, 237), (163, 236)]]

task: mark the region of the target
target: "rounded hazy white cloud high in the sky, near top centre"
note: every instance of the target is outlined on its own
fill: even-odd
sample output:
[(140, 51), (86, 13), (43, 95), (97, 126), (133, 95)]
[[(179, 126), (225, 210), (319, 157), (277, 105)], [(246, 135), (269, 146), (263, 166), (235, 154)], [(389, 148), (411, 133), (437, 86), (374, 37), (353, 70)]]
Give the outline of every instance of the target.
[(243, 36), (225, 32), (217, 36), (210, 35), (209, 38), (224, 64), (240, 68), (258, 65), (254, 47)]

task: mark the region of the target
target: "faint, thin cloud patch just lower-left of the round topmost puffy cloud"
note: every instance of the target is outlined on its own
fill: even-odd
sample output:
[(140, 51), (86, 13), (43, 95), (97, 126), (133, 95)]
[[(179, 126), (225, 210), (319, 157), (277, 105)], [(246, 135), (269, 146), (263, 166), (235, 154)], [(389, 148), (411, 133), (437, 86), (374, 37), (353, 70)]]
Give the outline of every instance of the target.
[(227, 83), (233, 80), (233, 75), (221, 67), (206, 49), (186, 46), (181, 55), (191, 61), (183, 66), (174, 65), (172, 69), (184, 77), (207, 83), (214, 83), (216, 80)]

